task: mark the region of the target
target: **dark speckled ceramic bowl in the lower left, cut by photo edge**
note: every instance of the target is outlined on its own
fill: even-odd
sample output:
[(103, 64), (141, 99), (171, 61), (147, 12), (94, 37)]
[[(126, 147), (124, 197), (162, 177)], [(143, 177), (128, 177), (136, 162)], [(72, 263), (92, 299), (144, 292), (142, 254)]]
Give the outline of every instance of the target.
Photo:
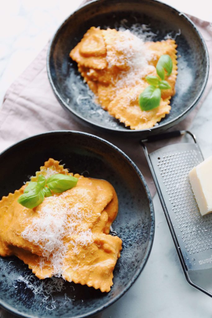
[[(0, 196), (19, 189), (49, 157), (61, 160), (74, 173), (87, 171), (114, 186), (119, 213), (113, 229), (123, 240), (113, 272), (114, 285), (109, 293), (101, 293), (66, 282), (65, 290), (52, 294), (55, 302), (50, 297), (45, 303), (43, 295), (33, 294), (30, 281), (17, 281), (31, 273), (28, 266), (16, 257), (0, 257), (0, 305), (23, 317), (87, 317), (119, 299), (144, 268), (154, 237), (152, 199), (139, 169), (120, 149), (96, 136), (72, 131), (32, 136), (1, 153)], [(40, 285), (36, 277), (35, 281)], [(45, 281), (51, 283), (51, 279)], [(67, 301), (65, 294), (74, 301)], [(50, 311), (46, 306), (56, 308)]]

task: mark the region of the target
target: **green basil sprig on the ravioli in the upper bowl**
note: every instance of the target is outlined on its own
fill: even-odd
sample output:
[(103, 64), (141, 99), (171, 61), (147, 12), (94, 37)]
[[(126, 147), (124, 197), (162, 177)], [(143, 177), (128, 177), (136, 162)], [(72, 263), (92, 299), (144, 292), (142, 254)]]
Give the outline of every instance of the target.
[(149, 86), (139, 95), (139, 106), (141, 110), (147, 111), (160, 105), (161, 89), (170, 89), (169, 83), (164, 80), (165, 71), (167, 76), (172, 73), (173, 63), (168, 54), (161, 55), (156, 65), (158, 76), (148, 75), (146, 77)]

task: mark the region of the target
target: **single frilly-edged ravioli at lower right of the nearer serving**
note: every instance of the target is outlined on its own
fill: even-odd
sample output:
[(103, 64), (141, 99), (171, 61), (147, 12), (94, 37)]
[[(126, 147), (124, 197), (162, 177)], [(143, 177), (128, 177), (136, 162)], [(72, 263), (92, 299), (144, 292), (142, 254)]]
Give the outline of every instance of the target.
[(95, 233), (92, 237), (93, 243), (87, 247), (80, 246), (78, 255), (73, 254), (69, 248), (63, 277), (74, 283), (99, 288), (101, 291), (104, 291), (104, 285), (106, 291), (109, 291), (113, 285), (113, 269), (117, 257), (120, 257), (121, 242), (117, 236), (104, 233)]

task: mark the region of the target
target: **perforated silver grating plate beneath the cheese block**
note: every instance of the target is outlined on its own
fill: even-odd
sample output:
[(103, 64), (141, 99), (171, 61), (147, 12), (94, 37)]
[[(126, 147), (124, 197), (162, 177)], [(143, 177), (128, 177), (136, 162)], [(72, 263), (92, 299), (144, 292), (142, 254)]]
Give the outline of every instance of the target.
[(188, 172), (203, 161), (198, 146), (169, 145), (149, 158), (187, 268), (211, 268), (212, 214), (200, 214), (188, 178)]

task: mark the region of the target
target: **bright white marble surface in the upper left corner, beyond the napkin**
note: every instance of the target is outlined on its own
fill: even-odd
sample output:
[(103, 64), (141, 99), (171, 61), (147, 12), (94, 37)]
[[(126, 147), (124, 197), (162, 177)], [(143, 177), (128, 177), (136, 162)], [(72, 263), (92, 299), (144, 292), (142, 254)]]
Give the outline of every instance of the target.
[(82, 0), (9, 0), (1, 7), (0, 103), (8, 86), (35, 59)]

